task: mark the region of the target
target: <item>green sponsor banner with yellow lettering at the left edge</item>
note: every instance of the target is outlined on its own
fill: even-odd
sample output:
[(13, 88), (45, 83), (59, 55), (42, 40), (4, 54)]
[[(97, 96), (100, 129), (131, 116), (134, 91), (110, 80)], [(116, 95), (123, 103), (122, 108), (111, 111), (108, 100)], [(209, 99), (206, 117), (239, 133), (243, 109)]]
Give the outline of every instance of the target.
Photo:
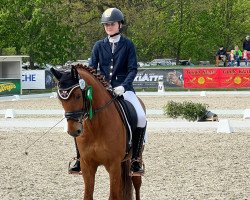
[(21, 94), (20, 79), (0, 79), (0, 96)]

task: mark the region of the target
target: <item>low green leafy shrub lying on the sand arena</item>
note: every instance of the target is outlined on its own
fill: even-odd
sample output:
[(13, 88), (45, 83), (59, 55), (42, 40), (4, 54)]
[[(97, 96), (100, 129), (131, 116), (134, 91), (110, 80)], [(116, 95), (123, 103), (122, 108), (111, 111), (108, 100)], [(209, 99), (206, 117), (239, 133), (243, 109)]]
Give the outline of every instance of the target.
[(171, 118), (184, 118), (188, 121), (202, 119), (207, 112), (208, 105), (193, 103), (190, 101), (174, 102), (169, 101), (164, 107), (164, 115)]

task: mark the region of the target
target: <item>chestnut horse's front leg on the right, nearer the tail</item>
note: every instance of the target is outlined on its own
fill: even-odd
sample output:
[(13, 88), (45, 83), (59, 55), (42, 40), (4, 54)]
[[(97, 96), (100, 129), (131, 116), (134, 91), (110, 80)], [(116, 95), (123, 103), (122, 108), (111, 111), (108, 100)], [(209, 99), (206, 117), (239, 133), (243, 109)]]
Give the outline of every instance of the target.
[(110, 166), (106, 166), (110, 179), (109, 200), (121, 200), (121, 161), (113, 161)]

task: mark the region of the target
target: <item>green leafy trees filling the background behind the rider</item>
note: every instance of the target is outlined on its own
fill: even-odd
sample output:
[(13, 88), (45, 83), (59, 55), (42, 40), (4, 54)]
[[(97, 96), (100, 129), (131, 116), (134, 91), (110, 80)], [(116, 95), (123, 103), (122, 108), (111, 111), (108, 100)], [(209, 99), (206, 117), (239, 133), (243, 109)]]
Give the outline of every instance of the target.
[(31, 63), (86, 59), (105, 36), (100, 17), (117, 7), (138, 60), (214, 60), (218, 46), (242, 46), (250, 34), (249, 0), (0, 0), (0, 54), (27, 54)]

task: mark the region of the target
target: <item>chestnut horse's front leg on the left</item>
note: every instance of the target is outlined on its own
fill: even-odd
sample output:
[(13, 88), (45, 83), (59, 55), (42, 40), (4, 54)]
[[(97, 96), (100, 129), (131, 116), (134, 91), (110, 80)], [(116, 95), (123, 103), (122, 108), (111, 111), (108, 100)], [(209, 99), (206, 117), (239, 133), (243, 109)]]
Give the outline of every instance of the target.
[(84, 180), (84, 200), (93, 200), (97, 165), (95, 163), (86, 163), (81, 159), (81, 170)]

